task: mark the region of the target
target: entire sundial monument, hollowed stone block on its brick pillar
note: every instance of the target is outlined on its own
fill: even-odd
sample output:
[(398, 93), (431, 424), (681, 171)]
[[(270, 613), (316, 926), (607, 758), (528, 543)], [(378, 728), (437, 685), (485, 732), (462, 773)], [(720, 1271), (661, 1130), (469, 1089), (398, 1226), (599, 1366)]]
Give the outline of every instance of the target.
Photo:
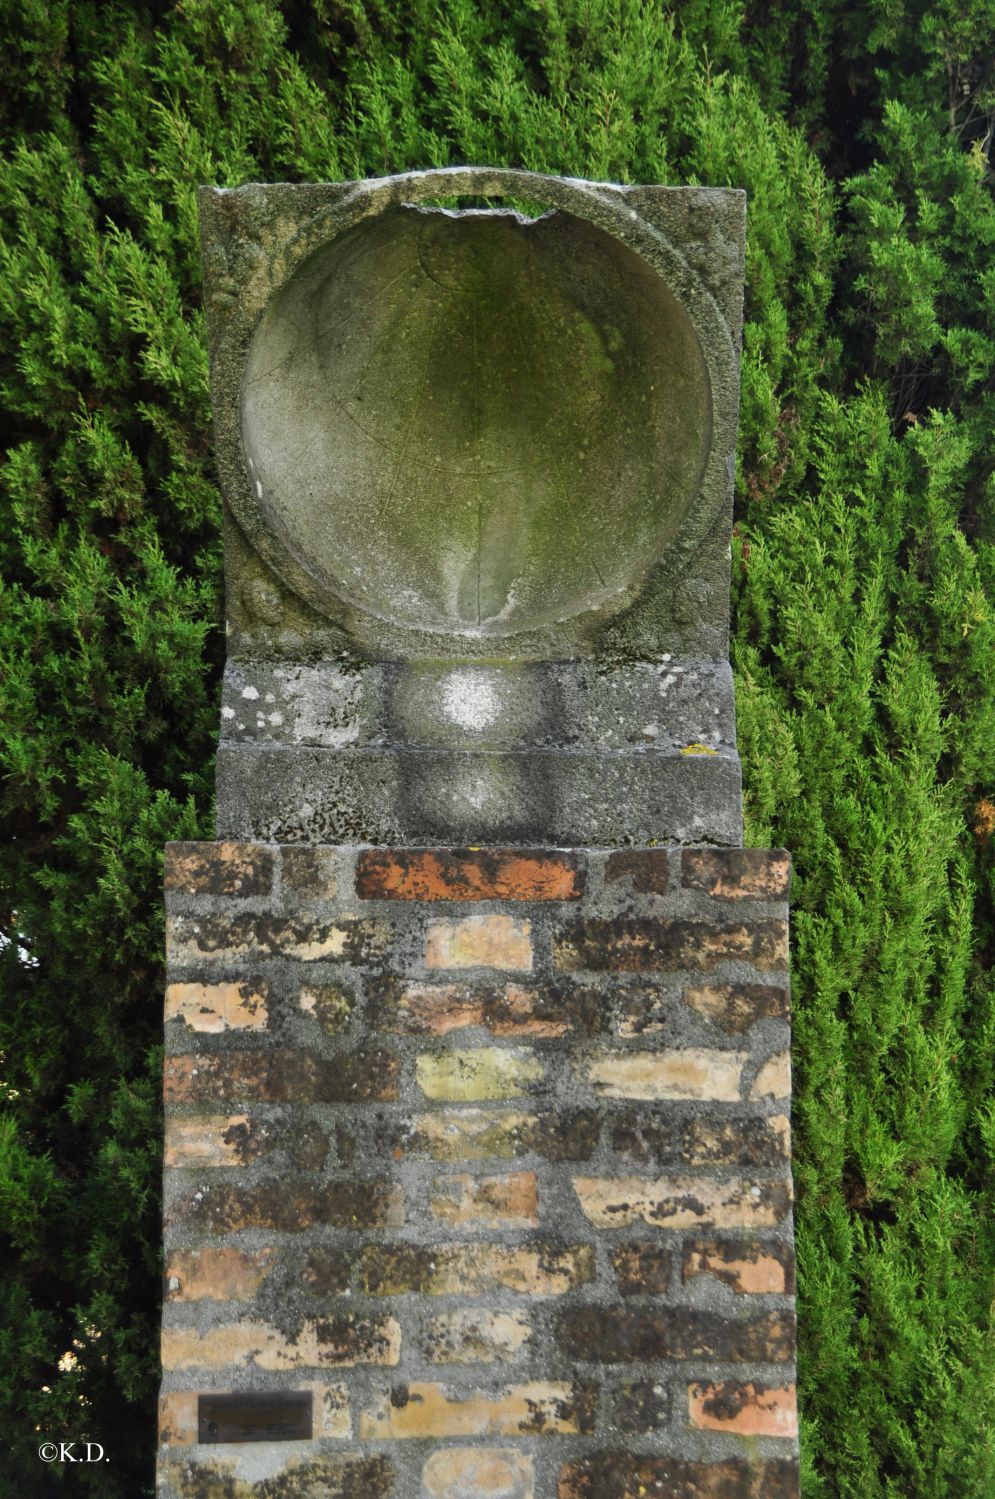
[(201, 214), (228, 664), (219, 841), (166, 851), (160, 1499), (790, 1499), (745, 195)]

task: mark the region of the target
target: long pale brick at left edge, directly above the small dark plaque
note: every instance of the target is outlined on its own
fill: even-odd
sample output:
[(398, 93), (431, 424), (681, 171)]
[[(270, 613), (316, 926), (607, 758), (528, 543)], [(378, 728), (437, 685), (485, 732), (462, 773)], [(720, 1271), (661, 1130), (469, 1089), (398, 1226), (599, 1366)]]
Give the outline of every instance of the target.
[(304, 1322), (289, 1340), (267, 1322), (232, 1322), (199, 1333), (163, 1327), (163, 1369), (322, 1369), (397, 1364), (400, 1327), (394, 1318), (330, 1316)]

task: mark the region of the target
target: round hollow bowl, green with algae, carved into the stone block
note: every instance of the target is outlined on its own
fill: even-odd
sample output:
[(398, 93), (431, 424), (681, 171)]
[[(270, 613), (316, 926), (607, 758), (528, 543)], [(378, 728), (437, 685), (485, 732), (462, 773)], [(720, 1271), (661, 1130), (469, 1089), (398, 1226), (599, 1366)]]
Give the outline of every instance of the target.
[(710, 429), (685, 309), (563, 210), (363, 219), (276, 294), (241, 385), (261, 519), (330, 613), (451, 636), (622, 595), (694, 501)]

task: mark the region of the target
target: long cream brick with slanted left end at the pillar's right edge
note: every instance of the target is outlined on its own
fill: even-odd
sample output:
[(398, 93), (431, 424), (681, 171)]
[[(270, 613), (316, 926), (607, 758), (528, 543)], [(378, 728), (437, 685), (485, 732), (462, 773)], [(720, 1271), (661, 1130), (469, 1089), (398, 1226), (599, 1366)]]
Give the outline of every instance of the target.
[(788, 1181), (716, 1181), (712, 1177), (574, 1177), (584, 1217), (595, 1228), (773, 1228), (788, 1211)]

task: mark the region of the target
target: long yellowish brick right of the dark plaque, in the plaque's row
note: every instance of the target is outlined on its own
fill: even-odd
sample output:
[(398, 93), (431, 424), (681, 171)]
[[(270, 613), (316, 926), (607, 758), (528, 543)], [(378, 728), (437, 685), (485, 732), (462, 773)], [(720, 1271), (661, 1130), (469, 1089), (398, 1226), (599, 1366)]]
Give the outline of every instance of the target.
[(487, 1393), (409, 1384), (360, 1412), (360, 1441), (577, 1435), (589, 1427), (587, 1405), (586, 1391), (553, 1381), (535, 1379)]

